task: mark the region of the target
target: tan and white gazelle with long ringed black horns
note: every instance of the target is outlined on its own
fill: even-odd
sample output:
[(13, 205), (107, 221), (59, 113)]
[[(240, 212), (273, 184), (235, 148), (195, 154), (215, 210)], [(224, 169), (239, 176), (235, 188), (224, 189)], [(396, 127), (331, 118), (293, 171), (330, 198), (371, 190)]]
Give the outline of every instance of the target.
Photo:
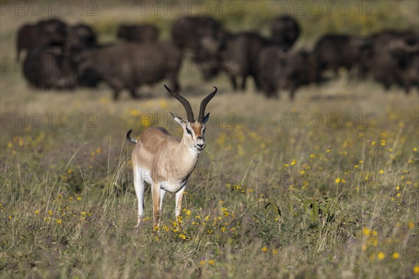
[(182, 140), (161, 127), (145, 129), (138, 141), (131, 138), (132, 129), (126, 133), (126, 140), (136, 144), (131, 156), (134, 187), (138, 199), (138, 220), (135, 227), (140, 226), (144, 213), (145, 182), (151, 184), (152, 187), (154, 229), (160, 225), (160, 211), (166, 191), (176, 193), (176, 220), (182, 216), (182, 197), (186, 181), (195, 169), (200, 153), (205, 149), (205, 123), (210, 118), (210, 113), (204, 115), (205, 107), (217, 91), (214, 86), (215, 90), (202, 100), (198, 121), (196, 121), (189, 101), (169, 89), (166, 84), (165, 88), (182, 103), (188, 121), (170, 112), (173, 119), (184, 130)]

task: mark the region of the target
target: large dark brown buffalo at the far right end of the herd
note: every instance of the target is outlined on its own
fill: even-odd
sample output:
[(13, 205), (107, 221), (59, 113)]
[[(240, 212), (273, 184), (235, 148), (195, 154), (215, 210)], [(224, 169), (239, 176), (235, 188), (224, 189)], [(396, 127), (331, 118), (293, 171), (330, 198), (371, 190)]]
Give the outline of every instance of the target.
[[(371, 73), (374, 80), (386, 90), (392, 84), (404, 86), (400, 73), (406, 68), (404, 59), (394, 55), (397, 49), (413, 49), (419, 46), (418, 33), (414, 31), (384, 30), (369, 36), (362, 50), (362, 73)], [(412, 57), (414, 58), (414, 56)], [(414, 63), (413, 63), (414, 64)], [(406, 86), (404, 86), (406, 89)], [(408, 89), (406, 89), (408, 90)]]

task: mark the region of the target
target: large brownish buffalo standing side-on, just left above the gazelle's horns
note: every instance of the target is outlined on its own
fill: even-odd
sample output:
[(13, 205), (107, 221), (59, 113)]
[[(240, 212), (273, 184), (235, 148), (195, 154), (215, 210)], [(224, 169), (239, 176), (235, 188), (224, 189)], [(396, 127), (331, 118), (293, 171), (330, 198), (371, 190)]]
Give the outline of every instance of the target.
[(164, 78), (170, 80), (173, 90), (179, 89), (177, 74), (182, 54), (171, 43), (121, 43), (89, 50), (83, 56), (81, 74), (86, 70), (97, 73), (112, 87), (115, 100), (123, 89), (138, 98), (138, 86), (152, 85)]

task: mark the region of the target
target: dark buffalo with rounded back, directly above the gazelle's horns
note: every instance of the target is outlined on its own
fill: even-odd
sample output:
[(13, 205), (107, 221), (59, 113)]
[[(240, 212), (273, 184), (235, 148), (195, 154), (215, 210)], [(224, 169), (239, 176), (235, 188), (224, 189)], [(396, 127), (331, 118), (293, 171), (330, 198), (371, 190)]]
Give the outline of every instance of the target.
[(212, 17), (181, 17), (172, 25), (172, 40), (179, 47), (197, 50), (204, 37), (221, 40), (223, 30)]

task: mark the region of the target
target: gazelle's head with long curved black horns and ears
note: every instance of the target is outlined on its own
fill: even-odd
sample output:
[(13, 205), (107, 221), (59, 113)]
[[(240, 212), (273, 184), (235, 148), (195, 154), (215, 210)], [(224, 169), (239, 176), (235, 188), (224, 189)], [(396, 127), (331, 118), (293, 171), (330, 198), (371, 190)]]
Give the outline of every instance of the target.
[(172, 112), (170, 112), (170, 114), (172, 114), (173, 116), (173, 119), (175, 119), (175, 121), (179, 123), (179, 125), (184, 129), (182, 142), (184, 142), (184, 144), (186, 144), (186, 146), (192, 151), (195, 151), (196, 153), (201, 153), (205, 149), (205, 123), (207, 123), (208, 119), (210, 119), (210, 113), (208, 112), (207, 114), (205, 114), (205, 107), (207, 107), (207, 104), (215, 96), (217, 91), (216, 87), (214, 86), (215, 90), (202, 100), (200, 104), (198, 120), (195, 120), (193, 118), (191, 104), (188, 100), (180, 96), (175, 91), (169, 89), (168, 86), (166, 86), (166, 84), (165, 88), (170, 94), (172, 94), (172, 96), (177, 98), (177, 100), (179, 100), (179, 102), (182, 103), (186, 110), (186, 116), (188, 117), (188, 121), (184, 121), (182, 117), (172, 114)]

